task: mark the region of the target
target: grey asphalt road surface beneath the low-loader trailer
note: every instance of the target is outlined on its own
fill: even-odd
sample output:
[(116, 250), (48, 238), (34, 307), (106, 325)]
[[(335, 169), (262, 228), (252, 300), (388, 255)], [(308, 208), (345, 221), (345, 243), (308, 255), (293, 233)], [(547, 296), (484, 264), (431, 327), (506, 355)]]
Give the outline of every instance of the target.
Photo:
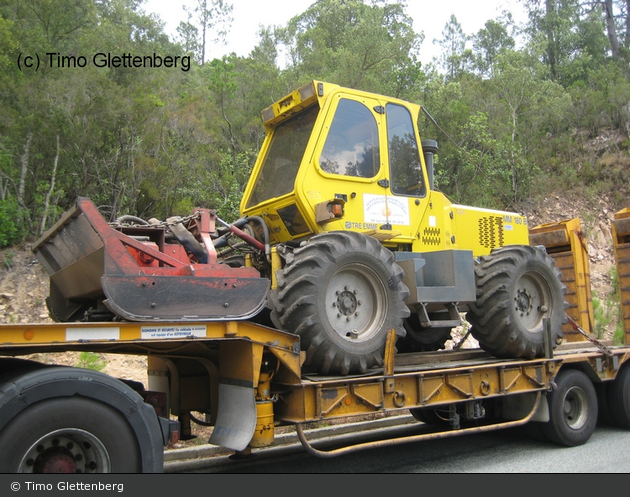
[[(418, 434), (426, 425), (403, 428)], [(338, 439), (338, 437), (336, 437)], [(331, 439), (313, 442), (326, 448)], [(345, 443), (354, 443), (350, 438)], [(630, 473), (630, 431), (600, 426), (579, 447), (559, 447), (523, 428), (467, 434), (367, 449), (334, 458), (315, 457), (299, 444), (260, 449), (249, 460), (217, 456), (176, 473)]]

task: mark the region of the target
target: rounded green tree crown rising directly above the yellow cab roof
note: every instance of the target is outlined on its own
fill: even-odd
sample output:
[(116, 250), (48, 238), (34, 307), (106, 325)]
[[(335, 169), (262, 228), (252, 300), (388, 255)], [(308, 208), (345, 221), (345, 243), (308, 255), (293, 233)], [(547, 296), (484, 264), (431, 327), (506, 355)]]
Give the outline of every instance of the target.
[(278, 31), (290, 57), (289, 85), (326, 79), (391, 93), (399, 71), (415, 64), (422, 37), (404, 2), (320, 0)]

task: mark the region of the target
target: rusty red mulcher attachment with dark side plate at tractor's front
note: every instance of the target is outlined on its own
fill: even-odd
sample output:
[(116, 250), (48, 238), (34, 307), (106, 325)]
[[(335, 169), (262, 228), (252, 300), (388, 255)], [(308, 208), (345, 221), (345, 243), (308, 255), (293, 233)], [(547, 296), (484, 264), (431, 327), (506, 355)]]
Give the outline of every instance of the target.
[(266, 304), (269, 281), (250, 267), (217, 262), (213, 211), (195, 235), (208, 252), (199, 263), (164, 226), (110, 226), (79, 197), (33, 246), (50, 276), (48, 309), (57, 321), (222, 321), (248, 319)]

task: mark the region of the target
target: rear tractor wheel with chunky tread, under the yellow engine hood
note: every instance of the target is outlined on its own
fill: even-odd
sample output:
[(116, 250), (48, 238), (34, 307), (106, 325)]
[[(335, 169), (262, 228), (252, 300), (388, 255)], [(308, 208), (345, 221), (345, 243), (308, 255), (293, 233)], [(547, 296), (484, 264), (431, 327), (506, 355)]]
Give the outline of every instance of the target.
[(566, 286), (544, 251), (506, 246), (481, 257), (475, 267), (477, 300), (467, 314), (480, 346), (500, 358), (544, 357), (543, 319), (550, 319), (551, 345), (562, 339)]

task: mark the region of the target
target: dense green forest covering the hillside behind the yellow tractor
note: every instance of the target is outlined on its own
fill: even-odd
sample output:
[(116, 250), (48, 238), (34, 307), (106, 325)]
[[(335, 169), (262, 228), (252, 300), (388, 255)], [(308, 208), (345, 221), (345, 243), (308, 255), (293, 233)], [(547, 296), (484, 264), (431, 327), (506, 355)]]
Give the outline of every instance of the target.
[(521, 1), (524, 26), (506, 12), (467, 34), (452, 16), (422, 65), (404, 1), (319, 0), (262, 28), (247, 57), (212, 59), (205, 40), (238, 36), (223, 0), (196, 0), (176, 39), (137, 0), (0, 0), (0, 247), (79, 195), (112, 219), (235, 219), (260, 111), (311, 79), (422, 103), (456, 202), (516, 209), (562, 189), (620, 204), (630, 0)]

